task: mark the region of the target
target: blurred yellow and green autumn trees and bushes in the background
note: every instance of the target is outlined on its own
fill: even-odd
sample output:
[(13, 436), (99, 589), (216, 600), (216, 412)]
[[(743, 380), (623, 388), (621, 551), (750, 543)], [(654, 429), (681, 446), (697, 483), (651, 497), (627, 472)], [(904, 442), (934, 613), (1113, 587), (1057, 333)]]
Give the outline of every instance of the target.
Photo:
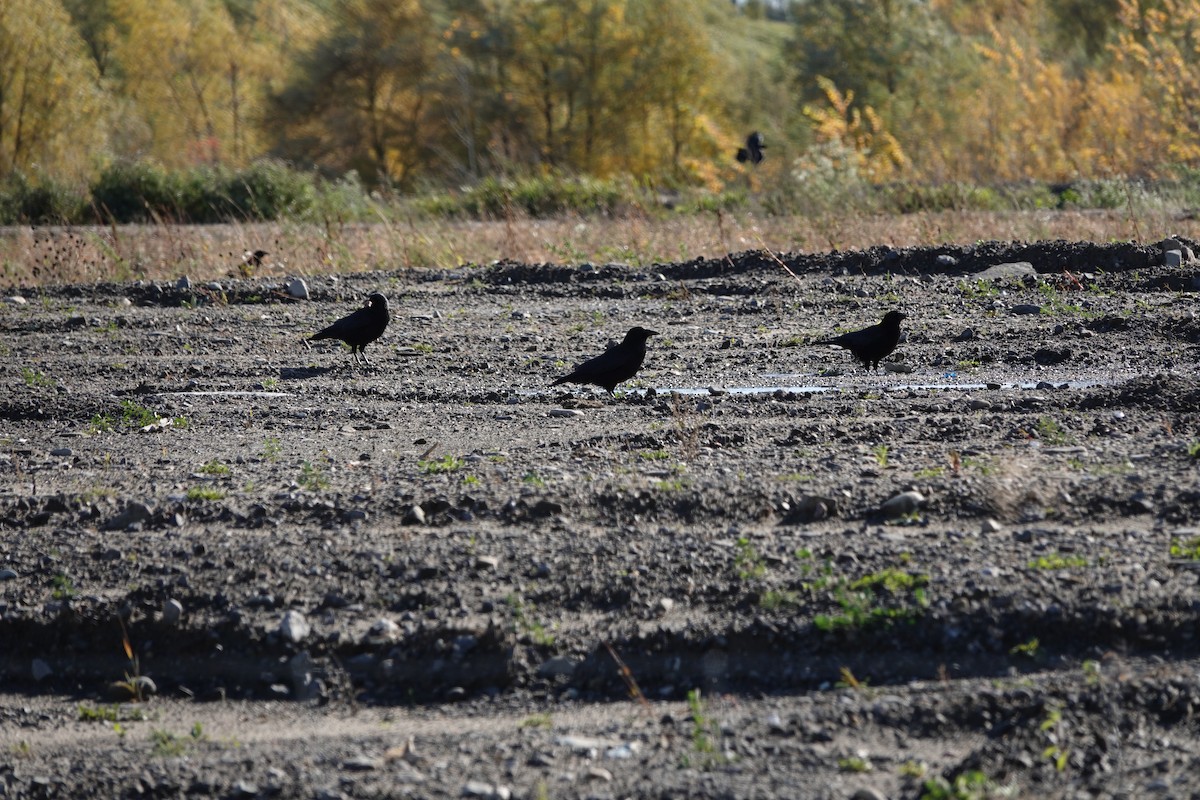
[(0, 2), (0, 223), (1111, 207), (1198, 168), (1195, 0)]

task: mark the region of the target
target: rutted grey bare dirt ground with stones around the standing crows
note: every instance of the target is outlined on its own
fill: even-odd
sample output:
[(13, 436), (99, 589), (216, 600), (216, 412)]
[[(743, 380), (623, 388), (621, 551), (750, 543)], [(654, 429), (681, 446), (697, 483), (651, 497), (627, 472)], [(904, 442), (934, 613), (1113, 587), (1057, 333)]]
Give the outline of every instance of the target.
[[(8, 289), (0, 796), (1195, 796), (1162, 259)], [(370, 367), (305, 349), (371, 290)], [(877, 374), (808, 347), (889, 308)], [(546, 389), (635, 324), (616, 399)]]

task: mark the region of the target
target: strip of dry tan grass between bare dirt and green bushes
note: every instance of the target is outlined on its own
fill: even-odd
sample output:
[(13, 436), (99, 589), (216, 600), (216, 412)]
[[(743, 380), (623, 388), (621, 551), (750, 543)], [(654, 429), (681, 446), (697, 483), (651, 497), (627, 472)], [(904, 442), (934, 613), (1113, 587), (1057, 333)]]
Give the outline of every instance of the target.
[(10, 285), (236, 275), (246, 249), (270, 252), (259, 275), (318, 275), (454, 267), (497, 259), (632, 265), (719, 258), (763, 246), (782, 252), (977, 241), (1118, 241), (1195, 237), (1200, 222), (1150, 211), (936, 212), (906, 216), (766, 217), (755, 213), (653, 219), (575, 217), (313, 225), (116, 225), (0, 229), (0, 279)]

